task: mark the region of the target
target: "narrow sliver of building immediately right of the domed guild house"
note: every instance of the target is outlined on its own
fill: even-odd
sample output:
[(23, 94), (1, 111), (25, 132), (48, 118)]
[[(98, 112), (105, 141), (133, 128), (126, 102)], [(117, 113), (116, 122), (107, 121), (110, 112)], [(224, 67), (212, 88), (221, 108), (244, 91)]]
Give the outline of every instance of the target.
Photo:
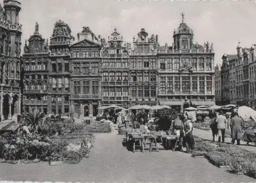
[(221, 105), (222, 98), (221, 98), (221, 70), (219, 65), (217, 64), (215, 67), (215, 101), (217, 105)]

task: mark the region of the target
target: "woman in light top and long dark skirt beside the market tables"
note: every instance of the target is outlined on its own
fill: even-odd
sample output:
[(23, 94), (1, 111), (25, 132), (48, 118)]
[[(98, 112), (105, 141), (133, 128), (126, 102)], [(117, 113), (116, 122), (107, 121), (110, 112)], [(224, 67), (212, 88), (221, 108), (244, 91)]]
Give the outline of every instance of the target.
[(185, 114), (185, 122), (184, 122), (184, 142), (186, 144), (186, 152), (193, 151), (195, 148), (194, 136), (192, 133), (193, 124), (191, 122), (193, 118)]

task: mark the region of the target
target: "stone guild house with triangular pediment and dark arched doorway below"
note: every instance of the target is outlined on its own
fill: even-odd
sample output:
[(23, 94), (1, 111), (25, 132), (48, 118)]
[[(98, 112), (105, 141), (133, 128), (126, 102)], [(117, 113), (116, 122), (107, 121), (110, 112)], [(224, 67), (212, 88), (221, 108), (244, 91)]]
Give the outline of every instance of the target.
[(89, 27), (70, 45), (71, 113), (96, 116), (101, 101), (101, 42)]

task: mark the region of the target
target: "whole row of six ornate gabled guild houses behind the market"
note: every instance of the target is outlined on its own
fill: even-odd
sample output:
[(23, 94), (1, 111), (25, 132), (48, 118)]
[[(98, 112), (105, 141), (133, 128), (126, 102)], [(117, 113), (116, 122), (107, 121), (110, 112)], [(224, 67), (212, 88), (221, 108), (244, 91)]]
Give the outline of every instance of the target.
[[(35, 29), (25, 45), (24, 60), (40, 60), (38, 72), (44, 76), (39, 77), (39, 93), (26, 93), (30, 88), (25, 87), (24, 109), (28, 111), (83, 117), (96, 116), (98, 107), (110, 104), (124, 108), (167, 104), (182, 111), (215, 102), (213, 46), (193, 43), (184, 14), (172, 46), (160, 46), (159, 36), (148, 35), (145, 29), (130, 43), (117, 29), (105, 39), (84, 26), (74, 41), (69, 26), (59, 20), (50, 44), (39, 35), (38, 24)], [(35, 45), (41, 49), (37, 54)], [(31, 82), (32, 68), (37, 66), (26, 67), (25, 81)], [(33, 78), (38, 80), (36, 74)]]

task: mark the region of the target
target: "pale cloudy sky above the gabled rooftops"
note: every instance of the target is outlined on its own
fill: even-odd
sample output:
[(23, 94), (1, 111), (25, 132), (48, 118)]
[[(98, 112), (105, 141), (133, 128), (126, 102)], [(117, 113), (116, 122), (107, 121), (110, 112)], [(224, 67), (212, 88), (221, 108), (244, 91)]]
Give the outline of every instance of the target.
[[(173, 31), (184, 21), (194, 32), (194, 43), (214, 44), (215, 64), (223, 54), (236, 54), (238, 42), (243, 47), (256, 43), (256, 3), (254, 1), (166, 1), (166, 0), (19, 0), (20, 23), (25, 39), (34, 33), (35, 22), (43, 38), (50, 38), (54, 23), (69, 24), (72, 35), (84, 25), (96, 35), (108, 38), (114, 28), (126, 42), (132, 42), (141, 28), (158, 34), (160, 45), (173, 43)], [(0, 0), (3, 5), (3, 0)]]

